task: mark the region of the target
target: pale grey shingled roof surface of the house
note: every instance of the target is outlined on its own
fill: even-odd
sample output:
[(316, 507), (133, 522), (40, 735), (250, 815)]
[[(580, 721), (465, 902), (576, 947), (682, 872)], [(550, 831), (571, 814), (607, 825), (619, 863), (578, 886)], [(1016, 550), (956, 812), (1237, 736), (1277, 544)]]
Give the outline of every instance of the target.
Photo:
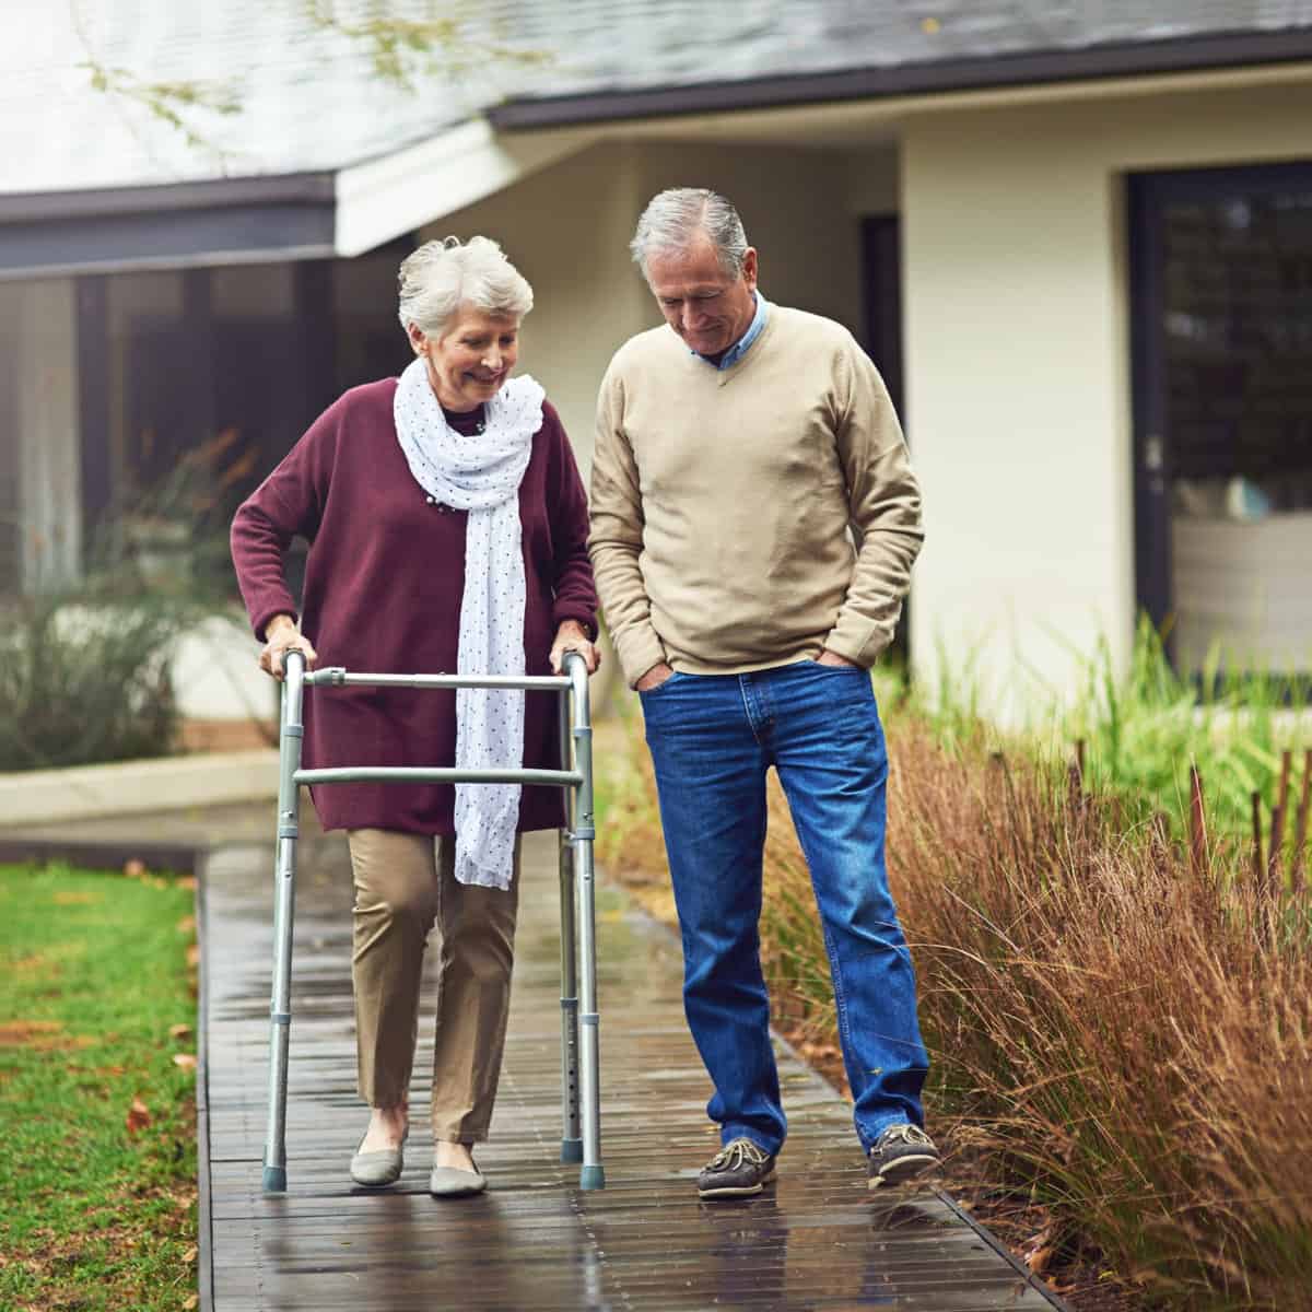
[[(346, 18), (371, 8), (320, 7)], [(454, 5), (388, 8), (424, 16)], [(492, 62), (463, 81), (432, 76), (407, 92), (374, 75), (361, 42), (316, 28), (310, 9), (307, 0), (4, 0), (0, 193), (333, 171), (506, 98), (502, 121), (513, 122), (516, 106), (559, 97), (604, 105), (711, 87), (732, 104), (739, 84), (851, 70), (870, 73), (859, 93), (875, 94), (882, 75), (914, 89), (908, 70), (1312, 29), (1312, 0), (484, 0), (467, 7), (472, 34), (551, 63)], [(1278, 46), (1262, 49), (1281, 58)], [(199, 138), (189, 143), (130, 94), (93, 89), (77, 67), (89, 59), (142, 81), (223, 85), (240, 110), (188, 113)]]

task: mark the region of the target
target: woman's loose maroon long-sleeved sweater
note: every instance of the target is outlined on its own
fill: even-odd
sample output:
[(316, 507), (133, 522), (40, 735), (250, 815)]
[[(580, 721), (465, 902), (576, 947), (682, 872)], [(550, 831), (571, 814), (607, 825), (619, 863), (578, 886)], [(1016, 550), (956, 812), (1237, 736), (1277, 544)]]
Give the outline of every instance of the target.
[[(232, 562), (255, 635), (297, 614), (282, 575), (293, 535), (311, 543), (300, 627), (319, 665), (373, 673), (455, 673), (464, 592), (466, 512), (429, 502), (405, 463), (392, 398), (396, 379), (356, 387), (333, 403), (232, 521)], [(474, 432), (482, 408), (449, 416)], [(560, 416), (544, 403), (520, 484), (527, 592), (529, 674), (550, 674), (558, 626), (596, 632), (583, 482)], [(455, 693), (446, 689), (306, 690), (302, 761), (329, 765), (453, 765)], [(559, 765), (556, 694), (526, 693), (523, 764)], [(332, 783), (314, 791), (327, 829), (455, 832), (451, 785)], [(520, 829), (563, 823), (558, 789), (525, 786)]]

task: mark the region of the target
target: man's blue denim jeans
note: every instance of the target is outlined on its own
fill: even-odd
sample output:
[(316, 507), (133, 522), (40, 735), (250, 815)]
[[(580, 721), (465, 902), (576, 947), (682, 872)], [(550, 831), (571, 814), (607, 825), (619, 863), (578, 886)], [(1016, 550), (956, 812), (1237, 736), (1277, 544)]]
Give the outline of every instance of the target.
[(775, 1153), (787, 1134), (758, 935), (771, 765), (811, 871), (862, 1147), (891, 1124), (922, 1124), (929, 1059), (884, 869), (888, 754), (870, 676), (810, 660), (676, 673), (642, 703), (684, 938), (684, 1009), (715, 1084), (706, 1110), (722, 1143), (747, 1138)]

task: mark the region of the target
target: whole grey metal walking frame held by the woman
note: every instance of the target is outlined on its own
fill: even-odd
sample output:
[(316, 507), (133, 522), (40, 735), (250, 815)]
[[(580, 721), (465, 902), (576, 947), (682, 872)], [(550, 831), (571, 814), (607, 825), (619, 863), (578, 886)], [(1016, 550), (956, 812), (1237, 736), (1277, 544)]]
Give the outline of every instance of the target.
[[(565, 653), (563, 676), (352, 674), (340, 666), (307, 672), (304, 656), (283, 660), (278, 731), (278, 827), (273, 904), (273, 996), (269, 1006), (269, 1123), (264, 1147), (265, 1193), (287, 1187), (287, 1048), (291, 1027), (291, 934), (295, 914), (297, 840), (302, 783), (537, 783), (565, 790), (568, 827), (560, 834), (560, 1160), (581, 1162), (579, 1186), (605, 1189), (597, 1042), (597, 913), (593, 870), (592, 722), (588, 666)], [(306, 687), (510, 687), (554, 691), (560, 706), (560, 770), (429, 766), (329, 766), (300, 769)], [(569, 769), (571, 764), (573, 769)], [(581, 994), (581, 996), (580, 996)], [(580, 1025), (583, 1034), (580, 1043)]]

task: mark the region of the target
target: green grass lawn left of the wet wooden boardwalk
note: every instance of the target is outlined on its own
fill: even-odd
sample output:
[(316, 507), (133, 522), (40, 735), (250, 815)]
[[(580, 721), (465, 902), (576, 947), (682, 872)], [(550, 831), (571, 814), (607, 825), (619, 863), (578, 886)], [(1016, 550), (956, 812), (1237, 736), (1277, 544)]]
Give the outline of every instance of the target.
[(192, 887), (0, 866), (7, 1312), (195, 1307)]

